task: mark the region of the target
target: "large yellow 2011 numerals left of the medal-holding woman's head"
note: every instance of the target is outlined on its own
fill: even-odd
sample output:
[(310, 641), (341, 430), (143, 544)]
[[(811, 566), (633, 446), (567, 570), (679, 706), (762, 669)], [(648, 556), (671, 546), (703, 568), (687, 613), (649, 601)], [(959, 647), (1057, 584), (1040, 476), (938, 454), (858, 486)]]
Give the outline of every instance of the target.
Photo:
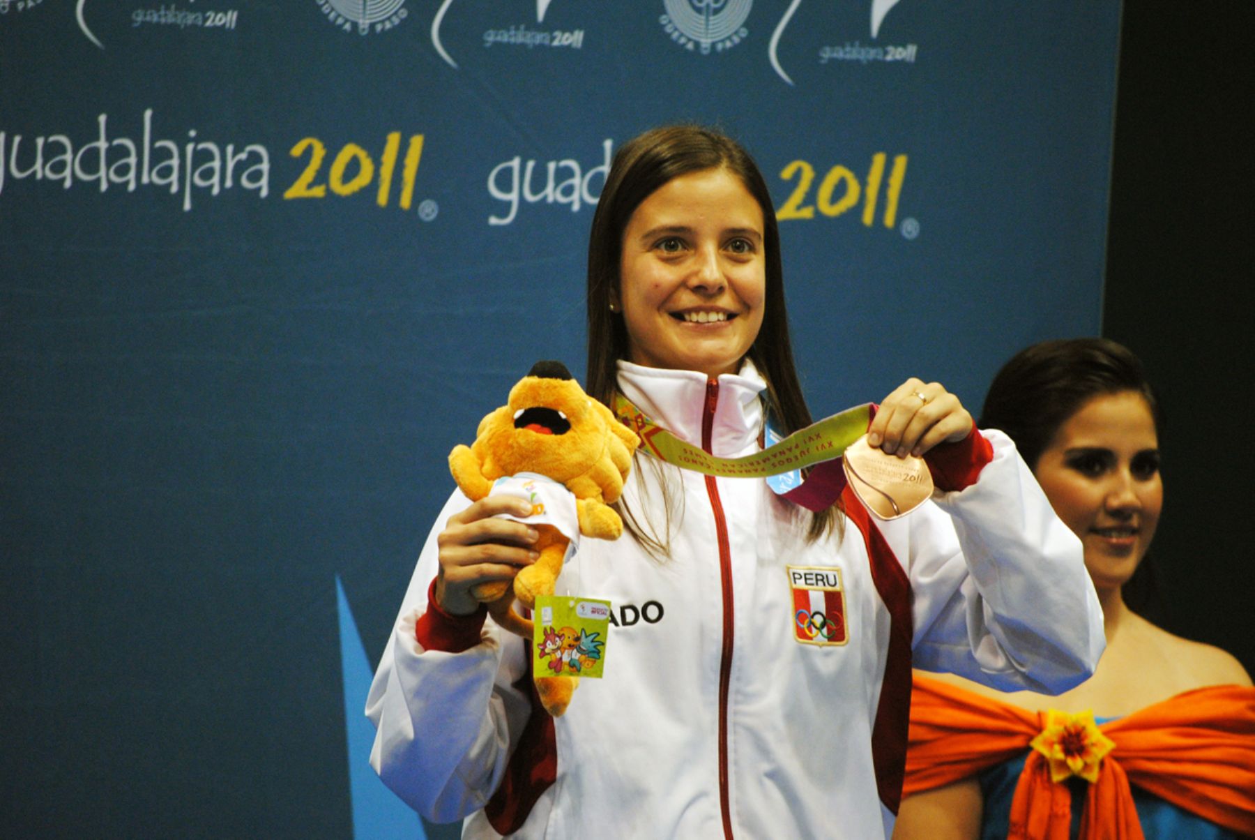
[[(309, 163), (300, 177), (287, 187), (284, 198), (324, 198), (326, 188), (338, 196), (351, 196), (363, 187), (370, 185), (375, 177), (375, 162), (366, 149), (356, 143), (345, 143), (326, 173), (326, 183), (314, 183), (323, 168), (323, 159), (326, 157), (326, 146), (316, 137), (306, 137), (292, 147), (292, 157), (301, 157), (310, 153)], [(400, 132), (392, 132), (384, 143), (384, 152), (379, 158), (379, 186), (375, 192), (375, 203), (380, 207), (388, 206), (392, 195), (393, 175), (397, 171), (397, 156), (400, 153)], [(412, 134), (409, 147), (405, 149), (405, 161), (402, 164), (402, 190), (400, 208), (409, 210), (414, 201), (414, 178), (418, 176), (418, 162), (423, 157), (423, 136)], [(353, 177), (345, 180), (345, 175)]]

